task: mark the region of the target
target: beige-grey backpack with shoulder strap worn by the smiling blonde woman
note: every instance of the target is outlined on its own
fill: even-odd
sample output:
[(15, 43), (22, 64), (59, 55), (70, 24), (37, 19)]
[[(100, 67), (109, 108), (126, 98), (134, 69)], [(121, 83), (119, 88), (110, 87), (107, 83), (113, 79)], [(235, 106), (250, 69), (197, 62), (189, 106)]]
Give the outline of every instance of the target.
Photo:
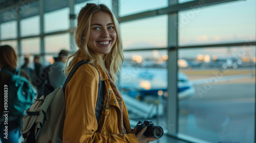
[[(37, 99), (34, 104), (25, 111), (26, 115), (23, 118), (23, 127), (20, 130), (24, 138), (24, 143), (62, 142), (63, 125), (66, 117), (65, 88), (77, 68), (84, 63), (88, 63), (88, 61), (82, 60), (74, 65), (63, 86), (54, 90), (51, 85), (46, 84), (44, 96)], [(99, 100), (104, 99), (105, 85), (103, 82), (104, 81), (99, 82), (95, 109), (97, 121), (102, 111), (102, 108), (99, 108), (99, 104), (101, 104)]]

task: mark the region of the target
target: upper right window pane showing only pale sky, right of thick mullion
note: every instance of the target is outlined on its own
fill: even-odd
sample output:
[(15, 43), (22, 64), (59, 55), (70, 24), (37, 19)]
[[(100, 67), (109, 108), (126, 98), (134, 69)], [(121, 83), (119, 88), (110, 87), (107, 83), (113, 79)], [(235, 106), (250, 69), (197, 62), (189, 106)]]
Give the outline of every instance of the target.
[(179, 45), (255, 41), (256, 1), (179, 12)]

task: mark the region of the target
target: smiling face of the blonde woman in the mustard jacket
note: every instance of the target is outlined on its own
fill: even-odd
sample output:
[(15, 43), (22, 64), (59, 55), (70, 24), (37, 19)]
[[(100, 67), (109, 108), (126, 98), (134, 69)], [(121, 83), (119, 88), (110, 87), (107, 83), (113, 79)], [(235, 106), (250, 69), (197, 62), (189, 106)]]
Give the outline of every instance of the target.
[(106, 12), (94, 13), (91, 19), (89, 48), (102, 58), (109, 54), (116, 42), (116, 30), (110, 15)]

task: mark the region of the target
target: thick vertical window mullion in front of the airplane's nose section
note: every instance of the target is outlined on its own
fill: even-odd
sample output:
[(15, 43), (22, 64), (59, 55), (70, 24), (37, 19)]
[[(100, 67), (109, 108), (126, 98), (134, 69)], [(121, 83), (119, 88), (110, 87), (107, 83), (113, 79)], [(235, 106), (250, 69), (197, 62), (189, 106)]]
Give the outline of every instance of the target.
[[(178, 1), (169, 0), (169, 6), (178, 4)], [(168, 47), (178, 46), (178, 28), (174, 23), (178, 23), (178, 13), (168, 14)], [(166, 124), (169, 135), (178, 133), (178, 51), (177, 49), (168, 49), (167, 60), (167, 110)]]

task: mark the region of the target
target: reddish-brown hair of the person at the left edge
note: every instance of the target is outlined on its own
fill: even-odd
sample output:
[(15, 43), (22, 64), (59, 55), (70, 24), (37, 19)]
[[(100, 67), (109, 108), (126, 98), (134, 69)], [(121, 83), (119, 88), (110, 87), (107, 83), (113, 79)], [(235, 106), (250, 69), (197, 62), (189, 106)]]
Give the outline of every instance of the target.
[(0, 63), (3, 66), (16, 68), (17, 54), (9, 45), (0, 46)]

